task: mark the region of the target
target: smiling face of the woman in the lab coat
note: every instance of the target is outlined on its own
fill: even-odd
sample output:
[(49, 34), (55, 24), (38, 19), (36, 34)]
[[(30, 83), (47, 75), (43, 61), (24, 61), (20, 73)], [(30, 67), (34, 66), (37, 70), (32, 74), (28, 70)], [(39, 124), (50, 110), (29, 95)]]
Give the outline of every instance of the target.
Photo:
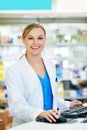
[(26, 35), (22, 36), (22, 40), (28, 55), (41, 55), (46, 40), (45, 32), (41, 27), (33, 27), (31, 30), (27, 30)]

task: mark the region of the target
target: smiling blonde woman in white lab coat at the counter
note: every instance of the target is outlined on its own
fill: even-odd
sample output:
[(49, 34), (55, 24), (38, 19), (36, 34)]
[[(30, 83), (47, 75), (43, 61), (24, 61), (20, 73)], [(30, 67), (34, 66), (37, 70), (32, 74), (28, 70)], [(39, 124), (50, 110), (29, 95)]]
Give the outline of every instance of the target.
[(26, 54), (6, 71), (9, 110), (14, 115), (13, 125), (44, 117), (55, 122), (60, 111), (82, 105), (79, 101), (66, 102), (56, 98), (55, 66), (41, 56), (46, 42), (46, 31), (39, 23), (27, 25), (22, 34)]

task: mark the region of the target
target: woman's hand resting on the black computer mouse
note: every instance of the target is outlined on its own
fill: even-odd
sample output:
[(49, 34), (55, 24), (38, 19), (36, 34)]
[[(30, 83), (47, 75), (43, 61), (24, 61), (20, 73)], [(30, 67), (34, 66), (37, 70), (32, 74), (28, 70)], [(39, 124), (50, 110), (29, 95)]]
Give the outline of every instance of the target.
[(37, 118), (42, 117), (48, 120), (49, 122), (56, 122), (56, 119), (58, 119), (60, 116), (59, 111), (57, 110), (48, 110), (41, 112)]

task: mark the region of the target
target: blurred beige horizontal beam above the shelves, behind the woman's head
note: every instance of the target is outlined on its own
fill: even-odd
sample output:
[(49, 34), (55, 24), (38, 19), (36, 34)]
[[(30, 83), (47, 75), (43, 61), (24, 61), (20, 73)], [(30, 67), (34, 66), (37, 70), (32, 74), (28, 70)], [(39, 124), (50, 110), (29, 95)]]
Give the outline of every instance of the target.
[[(24, 17), (23, 17), (24, 15)], [(34, 14), (35, 15), (35, 14)], [(31, 17), (32, 16), (32, 17)], [(0, 24), (26, 24), (32, 21), (40, 23), (87, 23), (87, 14), (0, 14)]]

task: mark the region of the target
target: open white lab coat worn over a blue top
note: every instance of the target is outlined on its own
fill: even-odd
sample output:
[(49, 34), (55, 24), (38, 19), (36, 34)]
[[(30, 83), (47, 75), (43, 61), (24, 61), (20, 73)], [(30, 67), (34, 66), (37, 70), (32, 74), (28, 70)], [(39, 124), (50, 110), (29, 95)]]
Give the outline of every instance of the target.
[[(43, 61), (52, 86), (53, 108), (58, 107), (60, 111), (69, 108), (70, 102), (56, 98), (55, 66), (44, 58)], [(14, 115), (13, 125), (35, 120), (37, 115), (43, 111), (42, 87), (25, 56), (6, 70), (5, 84), (9, 110)]]

